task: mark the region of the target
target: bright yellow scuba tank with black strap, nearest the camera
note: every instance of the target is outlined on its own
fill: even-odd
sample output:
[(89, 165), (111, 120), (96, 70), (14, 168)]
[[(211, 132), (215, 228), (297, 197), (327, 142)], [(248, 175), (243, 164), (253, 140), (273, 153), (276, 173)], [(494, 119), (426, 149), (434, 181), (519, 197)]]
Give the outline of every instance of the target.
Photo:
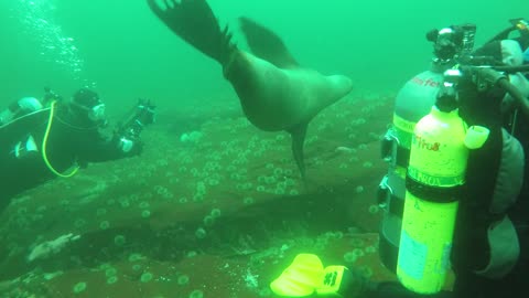
[[(488, 134), (481, 128), (467, 134), (455, 98), (453, 84), (445, 83), (411, 140), (397, 276), (419, 294), (444, 286), (468, 148), (481, 147)], [(474, 141), (476, 131), (484, 134)]]

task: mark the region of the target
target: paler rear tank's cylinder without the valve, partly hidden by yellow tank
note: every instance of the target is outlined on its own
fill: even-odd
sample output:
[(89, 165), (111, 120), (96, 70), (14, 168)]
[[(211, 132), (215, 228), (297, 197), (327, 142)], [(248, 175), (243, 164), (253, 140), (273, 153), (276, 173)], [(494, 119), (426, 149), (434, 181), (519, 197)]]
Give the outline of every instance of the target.
[(434, 61), (430, 71), (415, 75), (404, 84), (395, 100), (393, 124), (382, 139), (382, 158), (388, 161), (388, 173), (378, 192), (378, 203), (384, 209), (379, 255), (392, 273), (397, 268), (411, 136), (415, 124), (428, 115), (435, 103), (444, 70), (444, 64)]

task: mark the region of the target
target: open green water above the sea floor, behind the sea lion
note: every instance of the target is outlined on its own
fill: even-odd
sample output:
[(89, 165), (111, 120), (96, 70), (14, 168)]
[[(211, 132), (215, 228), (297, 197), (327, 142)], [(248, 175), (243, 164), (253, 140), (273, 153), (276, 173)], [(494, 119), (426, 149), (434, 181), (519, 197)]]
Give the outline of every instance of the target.
[[(208, 2), (236, 40), (241, 41), (237, 18), (250, 17), (282, 36), (301, 64), (347, 74), (357, 91), (375, 93), (396, 91), (428, 67), (428, 30), (473, 22), (479, 44), (507, 26), (508, 19), (527, 17), (519, 14), (523, 0), (509, 6), (477, 0)], [(44, 12), (35, 12), (35, 6)], [(35, 30), (39, 19), (55, 32)], [(145, 1), (4, 0), (0, 20), (3, 106), (20, 96), (42, 95), (44, 85), (69, 96), (85, 84), (94, 85), (110, 109), (140, 96), (169, 109), (235, 100), (220, 67), (173, 35)], [(75, 57), (62, 56), (61, 49), (43, 51), (43, 44), (57, 39), (72, 39), (66, 46), (77, 49)], [(73, 66), (73, 58), (82, 64)]]

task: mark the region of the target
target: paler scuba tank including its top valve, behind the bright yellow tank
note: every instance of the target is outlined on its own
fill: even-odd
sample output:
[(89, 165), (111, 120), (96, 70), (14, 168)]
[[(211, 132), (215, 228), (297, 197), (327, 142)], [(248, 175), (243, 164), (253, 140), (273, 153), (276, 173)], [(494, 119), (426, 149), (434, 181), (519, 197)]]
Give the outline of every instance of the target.
[[(460, 40), (460, 32), (463, 40)], [(384, 209), (380, 225), (379, 255), (382, 264), (396, 273), (400, 232), (406, 196), (406, 172), (415, 124), (428, 115), (443, 85), (443, 73), (454, 66), (456, 57), (469, 52), (474, 44), (475, 26), (432, 30), (427, 39), (434, 43), (431, 70), (411, 78), (399, 91), (392, 127), (382, 140), (382, 158), (388, 161), (388, 173), (379, 184), (378, 203)]]

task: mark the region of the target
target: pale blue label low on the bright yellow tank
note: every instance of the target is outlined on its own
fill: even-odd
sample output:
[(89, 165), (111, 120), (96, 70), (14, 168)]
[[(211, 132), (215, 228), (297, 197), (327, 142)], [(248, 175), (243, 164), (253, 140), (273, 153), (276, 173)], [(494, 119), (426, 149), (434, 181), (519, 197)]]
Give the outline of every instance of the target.
[(399, 267), (402, 272), (411, 278), (422, 279), (427, 266), (427, 245), (414, 241), (402, 231), (399, 249)]

